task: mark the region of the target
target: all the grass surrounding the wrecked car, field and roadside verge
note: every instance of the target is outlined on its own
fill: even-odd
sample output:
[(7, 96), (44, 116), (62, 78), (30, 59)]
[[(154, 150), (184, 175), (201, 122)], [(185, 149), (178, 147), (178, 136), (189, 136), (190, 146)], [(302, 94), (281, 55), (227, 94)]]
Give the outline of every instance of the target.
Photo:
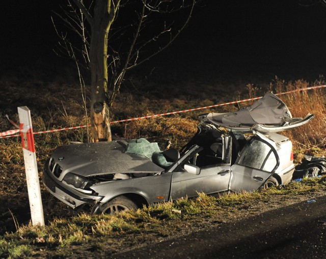
[[(89, 124), (89, 89), (81, 88), (69, 69), (62, 68), (55, 74), (48, 71), (36, 73), (28, 68), (21, 68), (19, 71), (18, 75), (8, 73), (0, 78), (0, 132), (13, 129), (5, 117), (6, 114), (18, 123), (17, 106), (25, 105), (31, 109), (34, 132)], [(58, 77), (58, 74), (61, 76)], [(176, 77), (177, 75), (167, 79), (156, 74), (155, 77), (135, 76), (132, 80), (127, 80), (113, 107), (112, 120), (242, 100), (263, 96), (267, 91), (282, 93), (324, 84), (322, 78), (315, 82), (285, 82), (276, 78), (270, 83), (237, 85), (223, 83), (221, 80), (176, 80)], [(311, 123), (284, 132), (293, 142), (296, 162), (300, 162), (303, 154), (326, 154), (325, 93), (325, 89), (320, 89), (280, 97), (293, 117), (315, 114)], [(163, 145), (168, 138), (172, 147), (180, 148), (196, 132), (199, 114), (235, 111), (251, 103), (115, 124), (112, 130), (118, 137), (145, 137), (159, 145)], [(35, 135), (40, 175), (51, 152), (71, 141), (88, 141), (87, 129)], [(219, 198), (201, 194), (196, 200), (182, 199), (175, 203), (111, 217), (76, 214), (60, 203), (53, 210), (49, 194), (41, 185), (46, 226), (33, 227), (29, 225), (20, 138), (0, 139), (0, 152), (0, 257), (55, 255), (59, 258), (71, 256), (72, 253), (78, 253), (78, 250), (84, 251), (86, 255), (104, 250), (108, 254), (114, 254), (121, 249), (122, 243), (132, 247), (134, 238), (142, 243), (142, 240), (152, 242), (154, 239), (177, 235), (178, 232), (186, 234), (194, 224), (204, 227), (212, 222), (234, 220), (236, 217), (246, 216), (248, 208), (251, 213), (258, 213), (262, 208), (273, 209), (325, 191), (325, 178), (307, 179), (268, 191)]]

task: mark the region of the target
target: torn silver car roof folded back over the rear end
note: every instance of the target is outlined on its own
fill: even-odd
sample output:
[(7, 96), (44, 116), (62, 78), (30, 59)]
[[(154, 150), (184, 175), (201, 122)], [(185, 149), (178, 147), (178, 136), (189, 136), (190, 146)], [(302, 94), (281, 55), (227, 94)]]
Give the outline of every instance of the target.
[(205, 119), (215, 125), (238, 131), (258, 131), (261, 133), (279, 132), (301, 126), (313, 119), (313, 114), (306, 118), (292, 118), (284, 102), (272, 93), (249, 107), (235, 112), (209, 113)]

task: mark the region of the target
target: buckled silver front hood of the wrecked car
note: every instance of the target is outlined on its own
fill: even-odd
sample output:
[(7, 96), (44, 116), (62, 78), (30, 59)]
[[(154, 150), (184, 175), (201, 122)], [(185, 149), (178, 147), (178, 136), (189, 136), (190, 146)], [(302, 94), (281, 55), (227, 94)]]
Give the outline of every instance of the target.
[(93, 176), (120, 173), (154, 173), (164, 169), (151, 162), (147, 157), (123, 153), (123, 142), (81, 143), (58, 147), (52, 158), (63, 171), (61, 178), (68, 172), (80, 176)]

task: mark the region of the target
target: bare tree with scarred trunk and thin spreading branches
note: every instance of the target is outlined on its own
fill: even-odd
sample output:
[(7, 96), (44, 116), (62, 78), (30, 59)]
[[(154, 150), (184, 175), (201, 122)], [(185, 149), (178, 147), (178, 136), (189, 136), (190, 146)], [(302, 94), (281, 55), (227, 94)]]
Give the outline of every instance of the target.
[[(133, 4), (136, 4), (133, 8), (137, 8), (135, 11), (138, 15), (138, 25), (135, 24), (137, 26), (133, 26), (134, 21), (132, 20), (130, 26), (127, 26), (128, 28), (119, 28), (119, 30), (122, 30), (122, 34), (128, 32), (129, 29), (133, 31), (130, 37), (127, 37), (127, 44), (130, 43), (129, 50), (122, 55), (120, 55), (119, 51), (117, 52), (114, 50), (110, 55), (107, 54), (108, 34), (118, 14), (121, 0), (85, 1), (88, 2), (87, 6), (84, 5), (84, 0), (71, 1), (74, 5), (71, 5), (70, 1), (68, 1), (69, 11), (64, 10), (65, 17), (58, 13), (56, 14), (64, 21), (68, 28), (83, 40), (83, 48), (78, 49), (73, 46), (66, 34), (59, 34), (56, 26), (55, 29), (58, 36), (63, 41), (63, 45), (61, 46), (67, 51), (67, 55), (72, 57), (76, 64), (78, 64), (79, 60), (75, 55), (75, 50), (77, 50), (91, 69), (91, 141), (111, 141), (111, 106), (119, 93), (126, 71), (141, 65), (154, 55), (166, 49), (180, 34), (186, 24), (188, 24), (197, 0), (189, 0), (189, 4), (187, 4), (186, 0), (123, 1), (126, 5), (130, 4), (133, 6)], [(177, 2), (179, 2), (179, 4)], [(138, 10), (140, 7), (139, 3), (142, 4), (142, 10)], [(146, 27), (146, 24), (149, 23), (148, 17), (150, 14), (155, 13), (161, 15), (172, 13), (187, 7), (191, 8), (189, 15), (182, 27), (175, 33), (171, 32), (173, 22), (167, 24), (166, 21), (164, 21), (164, 26), (160, 27), (157, 33), (151, 32), (150, 29), (149, 36), (147, 37), (147, 34), (144, 32), (143, 36), (145, 37), (140, 39), (140, 32)], [(87, 20), (90, 25), (90, 31), (86, 30), (84, 25), (85, 20)], [(133, 28), (134, 30), (132, 30)], [(89, 34), (89, 32), (91, 32), (91, 34)], [(161, 37), (164, 41), (168, 40), (163, 46), (159, 46), (156, 50), (150, 52), (144, 51), (146, 46), (151, 46), (153, 42)], [(107, 59), (109, 59), (109, 65), (107, 64)], [(110, 80), (108, 80), (108, 66), (112, 74)], [(108, 85), (109, 82), (110, 85)]]

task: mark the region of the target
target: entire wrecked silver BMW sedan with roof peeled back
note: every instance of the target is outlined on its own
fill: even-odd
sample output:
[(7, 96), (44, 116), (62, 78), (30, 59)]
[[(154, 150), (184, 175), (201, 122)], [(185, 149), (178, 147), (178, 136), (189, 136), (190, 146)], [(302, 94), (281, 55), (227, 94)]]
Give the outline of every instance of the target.
[(201, 116), (198, 132), (180, 151), (161, 151), (146, 139), (81, 143), (56, 149), (43, 183), (72, 208), (118, 213), (198, 192), (253, 191), (287, 184), (294, 171), (292, 143), (276, 132), (309, 122), (292, 118), (267, 93), (253, 105)]

